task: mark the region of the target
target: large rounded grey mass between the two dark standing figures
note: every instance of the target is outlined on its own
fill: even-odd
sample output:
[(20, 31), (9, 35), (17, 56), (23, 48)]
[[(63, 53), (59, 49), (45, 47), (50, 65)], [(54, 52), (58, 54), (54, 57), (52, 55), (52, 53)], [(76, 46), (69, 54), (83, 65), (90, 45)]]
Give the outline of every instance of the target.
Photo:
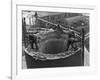
[(40, 42), (40, 52), (45, 54), (58, 54), (66, 51), (68, 42), (67, 34), (58, 35), (52, 32), (44, 36)]

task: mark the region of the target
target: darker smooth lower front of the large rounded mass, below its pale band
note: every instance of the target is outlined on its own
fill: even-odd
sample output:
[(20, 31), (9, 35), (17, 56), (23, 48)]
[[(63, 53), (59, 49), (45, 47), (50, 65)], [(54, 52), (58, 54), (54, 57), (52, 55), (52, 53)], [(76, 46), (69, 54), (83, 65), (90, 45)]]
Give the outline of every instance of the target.
[(67, 44), (64, 40), (49, 40), (42, 48), (42, 52), (46, 54), (57, 54), (60, 52), (65, 52), (67, 49)]

